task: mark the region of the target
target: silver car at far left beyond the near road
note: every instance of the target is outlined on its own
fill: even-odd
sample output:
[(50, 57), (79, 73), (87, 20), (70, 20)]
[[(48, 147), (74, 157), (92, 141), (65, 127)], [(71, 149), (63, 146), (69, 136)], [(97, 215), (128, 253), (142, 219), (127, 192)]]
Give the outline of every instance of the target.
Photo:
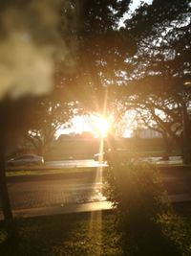
[(41, 165), (44, 164), (43, 156), (36, 154), (23, 154), (18, 157), (11, 158), (6, 162), (8, 166), (19, 166), (19, 165)]

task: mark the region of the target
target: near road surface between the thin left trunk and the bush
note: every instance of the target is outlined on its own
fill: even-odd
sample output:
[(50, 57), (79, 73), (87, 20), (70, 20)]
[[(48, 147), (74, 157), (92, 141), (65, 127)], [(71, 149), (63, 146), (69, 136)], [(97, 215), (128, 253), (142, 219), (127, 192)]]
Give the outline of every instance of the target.
[(76, 175), (36, 175), (11, 178), (13, 209), (103, 201), (101, 170)]

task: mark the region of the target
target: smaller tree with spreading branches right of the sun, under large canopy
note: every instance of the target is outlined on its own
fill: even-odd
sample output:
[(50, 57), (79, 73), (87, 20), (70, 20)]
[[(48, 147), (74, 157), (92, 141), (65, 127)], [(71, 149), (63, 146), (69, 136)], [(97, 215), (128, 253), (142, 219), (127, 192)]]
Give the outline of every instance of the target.
[(165, 93), (150, 93), (144, 98), (137, 97), (129, 101), (129, 107), (134, 107), (140, 122), (145, 128), (158, 131), (165, 142), (166, 153), (171, 151), (170, 141), (177, 148), (182, 148), (182, 124), (180, 104), (174, 95)]

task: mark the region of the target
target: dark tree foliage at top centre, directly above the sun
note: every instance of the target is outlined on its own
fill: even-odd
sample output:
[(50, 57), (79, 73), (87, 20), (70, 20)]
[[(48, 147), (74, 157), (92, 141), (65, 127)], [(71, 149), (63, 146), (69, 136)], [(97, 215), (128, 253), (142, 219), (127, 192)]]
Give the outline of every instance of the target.
[[(130, 1), (83, 1), (73, 3), (78, 10), (78, 27), (71, 31), (77, 50), (74, 70), (66, 74), (62, 63), (57, 70), (57, 81), (68, 84), (70, 94), (83, 102), (86, 109), (101, 113), (107, 85), (116, 84), (115, 73), (121, 59), (134, 52), (134, 40), (117, 23), (128, 11)], [(73, 93), (71, 93), (73, 92)]]

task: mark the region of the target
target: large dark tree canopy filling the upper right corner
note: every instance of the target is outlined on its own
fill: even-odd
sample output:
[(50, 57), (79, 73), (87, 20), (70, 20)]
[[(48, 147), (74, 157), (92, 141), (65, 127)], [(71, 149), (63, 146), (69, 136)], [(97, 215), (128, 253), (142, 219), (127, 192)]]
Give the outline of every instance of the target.
[[(124, 112), (135, 107), (145, 124), (157, 128), (163, 136), (170, 134), (180, 141), (179, 134), (186, 133), (186, 143), (190, 139), (189, 132), (182, 132), (182, 109), (188, 110), (190, 104), (190, 90), (183, 86), (191, 74), (189, 23), (188, 1), (156, 0), (151, 6), (141, 6), (126, 21), (126, 30), (134, 36), (138, 51), (126, 58), (122, 88), (117, 88), (117, 101)], [(187, 111), (184, 116), (188, 116)], [(188, 118), (184, 119), (189, 126)]]

